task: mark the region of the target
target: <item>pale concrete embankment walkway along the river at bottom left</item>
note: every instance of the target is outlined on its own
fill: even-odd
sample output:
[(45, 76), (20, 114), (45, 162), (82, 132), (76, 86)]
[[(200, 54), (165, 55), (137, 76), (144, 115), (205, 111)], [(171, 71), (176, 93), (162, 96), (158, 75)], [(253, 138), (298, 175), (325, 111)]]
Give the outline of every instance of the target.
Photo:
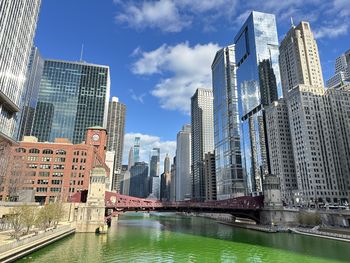
[(75, 233), (75, 228), (66, 225), (40, 233), (17, 242), (0, 246), (0, 262), (14, 262), (57, 240)]

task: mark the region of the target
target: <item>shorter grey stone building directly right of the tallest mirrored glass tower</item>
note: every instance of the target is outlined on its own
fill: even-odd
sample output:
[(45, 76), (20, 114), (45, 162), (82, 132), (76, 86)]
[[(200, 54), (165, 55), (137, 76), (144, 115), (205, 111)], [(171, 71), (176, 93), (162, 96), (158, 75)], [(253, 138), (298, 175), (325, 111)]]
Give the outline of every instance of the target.
[(274, 101), (265, 114), (271, 174), (280, 179), (282, 200), (292, 205), (298, 196), (298, 184), (286, 100)]

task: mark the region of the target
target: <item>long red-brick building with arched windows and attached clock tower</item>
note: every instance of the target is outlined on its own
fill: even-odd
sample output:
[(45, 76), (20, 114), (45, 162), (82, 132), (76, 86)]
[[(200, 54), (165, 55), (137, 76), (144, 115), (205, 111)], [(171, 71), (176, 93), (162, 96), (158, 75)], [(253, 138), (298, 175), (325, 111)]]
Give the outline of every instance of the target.
[(12, 148), (13, 162), (9, 167), (9, 184), (1, 189), (0, 198), (6, 199), (11, 187), (33, 190), (36, 202), (49, 202), (57, 197), (67, 199), (89, 187), (90, 171), (105, 164), (107, 132), (102, 127), (87, 129), (85, 142), (72, 144), (68, 139), (38, 142), (25, 136)]

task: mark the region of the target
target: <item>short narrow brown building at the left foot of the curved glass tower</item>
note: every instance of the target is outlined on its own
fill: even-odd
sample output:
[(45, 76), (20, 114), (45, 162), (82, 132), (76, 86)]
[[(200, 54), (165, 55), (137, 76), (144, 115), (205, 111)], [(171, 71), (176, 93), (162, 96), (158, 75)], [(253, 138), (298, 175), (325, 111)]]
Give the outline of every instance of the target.
[(204, 156), (205, 200), (216, 200), (215, 153)]

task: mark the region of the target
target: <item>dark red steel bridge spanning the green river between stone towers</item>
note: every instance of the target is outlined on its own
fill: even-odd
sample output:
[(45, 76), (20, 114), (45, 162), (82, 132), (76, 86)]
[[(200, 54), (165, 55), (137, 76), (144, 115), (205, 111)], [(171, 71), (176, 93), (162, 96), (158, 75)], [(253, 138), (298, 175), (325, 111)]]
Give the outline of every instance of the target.
[(164, 202), (152, 199), (142, 199), (114, 192), (105, 193), (105, 204), (109, 215), (127, 211), (158, 211), (158, 212), (202, 212), (226, 213), (236, 217), (260, 221), (260, 211), (264, 206), (263, 196), (242, 196), (218, 201), (181, 201)]

